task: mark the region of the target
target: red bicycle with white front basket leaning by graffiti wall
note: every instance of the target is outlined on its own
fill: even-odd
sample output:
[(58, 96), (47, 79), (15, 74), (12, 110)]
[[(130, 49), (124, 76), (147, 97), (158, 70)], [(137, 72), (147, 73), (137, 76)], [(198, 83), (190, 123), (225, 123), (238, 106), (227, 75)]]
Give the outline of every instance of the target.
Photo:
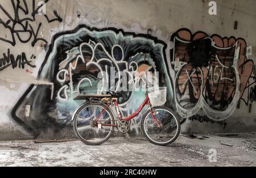
[[(142, 75), (139, 75), (142, 79)], [(80, 141), (86, 145), (101, 145), (108, 141), (117, 127), (119, 132), (127, 134), (130, 120), (136, 117), (148, 105), (141, 119), (144, 136), (155, 145), (166, 146), (174, 142), (180, 133), (180, 122), (175, 113), (167, 107), (155, 106), (166, 101), (166, 87), (148, 93), (146, 80), (146, 99), (133, 115), (122, 117), (118, 108), (121, 94), (108, 92), (108, 95), (79, 95), (75, 100), (87, 100), (73, 114), (73, 129)], [(165, 100), (165, 101), (162, 101)], [(115, 109), (113, 109), (115, 108)], [(115, 110), (115, 111), (114, 111)], [(116, 116), (116, 117), (114, 117)]]

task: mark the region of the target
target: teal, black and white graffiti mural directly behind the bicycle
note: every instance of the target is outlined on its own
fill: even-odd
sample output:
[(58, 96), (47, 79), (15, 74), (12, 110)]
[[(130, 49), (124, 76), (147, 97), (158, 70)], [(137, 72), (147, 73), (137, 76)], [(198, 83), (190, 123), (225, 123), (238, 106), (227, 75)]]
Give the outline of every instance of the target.
[[(99, 73), (108, 75), (114, 69), (114, 81), (111, 74), (105, 81), (115, 83), (114, 91), (122, 87), (120, 71), (125, 71), (126, 77), (132, 71), (159, 71), (162, 76), (167, 73), (165, 49), (166, 44), (155, 37), (115, 28), (79, 26), (73, 31), (59, 33), (53, 37), (38, 75), (39, 80), (55, 83), (55, 99), (50, 100), (48, 87), (32, 85), (14, 107), (13, 117), (34, 135), (48, 128), (71, 126), (72, 114), (81, 104), (73, 98), (79, 94), (104, 92), (98, 87)], [(160, 84), (171, 86), (171, 80), (166, 76)], [(167, 102), (171, 104), (172, 87), (168, 87), (168, 93)], [(124, 116), (134, 112), (144, 100), (142, 91), (127, 91), (122, 95), (119, 104)], [(26, 105), (31, 105), (28, 117), (23, 112)], [(139, 132), (139, 119), (140, 116), (131, 123), (135, 133)]]

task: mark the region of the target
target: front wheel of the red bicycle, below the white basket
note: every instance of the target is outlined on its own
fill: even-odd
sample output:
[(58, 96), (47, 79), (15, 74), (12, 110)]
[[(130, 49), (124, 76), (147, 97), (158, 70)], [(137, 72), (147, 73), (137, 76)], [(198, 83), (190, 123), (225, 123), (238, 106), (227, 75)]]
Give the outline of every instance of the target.
[(141, 120), (144, 136), (155, 145), (166, 146), (174, 142), (180, 133), (180, 122), (175, 113), (166, 107), (155, 107), (155, 118), (147, 111)]

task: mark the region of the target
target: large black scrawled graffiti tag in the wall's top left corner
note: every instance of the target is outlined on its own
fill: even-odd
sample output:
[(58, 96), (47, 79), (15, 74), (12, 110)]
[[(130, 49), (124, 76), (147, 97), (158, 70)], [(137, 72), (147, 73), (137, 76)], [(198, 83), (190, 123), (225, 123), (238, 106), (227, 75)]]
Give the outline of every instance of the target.
[[(20, 0), (16, 0), (16, 3), (14, 0), (11, 0), (11, 4), (14, 10), (13, 16), (11, 16), (11, 14), (0, 4), (0, 9), (2, 10), (3, 14), (5, 14), (5, 16), (8, 18), (6, 22), (4, 22), (2, 18), (0, 18), (0, 24), (8, 29), (11, 36), (11, 39), (0, 37), (0, 40), (5, 41), (6, 43), (9, 43), (13, 46), (15, 46), (17, 38), (21, 43), (28, 43), (30, 40), (32, 40), (32, 46), (35, 46), (38, 41), (44, 41), (44, 43), (48, 43), (46, 39), (38, 37), (40, 28), (42, 27), (42, 23), (40, 22), (37, 27), (35, 27), (35, 24), (32, 24), (32, 22), (36, 21), (35, 15), (39, 14), (40, 8), (44, 4), (46, 5), (49, 0), (44, 0), (44, 4), (42, 4), (41, 6), (36, 6), (35, 0), (32, 0), (32, 11), (30, 11), (30, 9), (28, 8), (26, 0), (23, 0), (22, 2), (23, 5), (21, 4)], [(21, 17), (20, 12), (23, 12), (23, 14), (25, 14), (26, 16)], [(53, 13), (56, 16), (56, 18), (53, 19), (49, 19), (48, 15), (44, 14), (47, 22), (62, 22), (62, 19), (57, 14), (57, 12), (53, 11)]]

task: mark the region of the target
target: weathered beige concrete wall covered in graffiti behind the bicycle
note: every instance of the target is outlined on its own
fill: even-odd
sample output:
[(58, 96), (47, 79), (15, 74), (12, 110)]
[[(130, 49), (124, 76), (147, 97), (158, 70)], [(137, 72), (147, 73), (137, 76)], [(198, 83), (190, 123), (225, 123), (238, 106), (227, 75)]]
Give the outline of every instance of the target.
[[(135, 69), (131, 63), (160, 71), (183, 133), (254, 132), (256, 1), (216, 2), (217, 15), (209, 15), (206, 0), (50, 0), (42, 15), (38, 0), (1, 0), (0, 139), (72, 137), (80, 105), (73, 96), (96, 92), (92, 76), (108, 71), (105, 63), (86, 66), (93, 54), (116, 71)], [(127, 115), (143, 94), (124, 94)], [(139, 118), (131, 122), (135, 134)]]

